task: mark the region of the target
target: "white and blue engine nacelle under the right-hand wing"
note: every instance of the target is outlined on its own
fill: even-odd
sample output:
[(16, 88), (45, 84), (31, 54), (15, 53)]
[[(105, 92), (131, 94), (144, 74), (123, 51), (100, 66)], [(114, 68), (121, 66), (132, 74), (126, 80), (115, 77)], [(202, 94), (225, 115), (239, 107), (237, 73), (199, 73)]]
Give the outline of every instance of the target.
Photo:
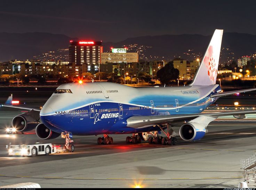
[(179, 128), (179, 136), (186, 141), (200, 140), (207, 132), (205, 126), (196, 122), (185, 123)]

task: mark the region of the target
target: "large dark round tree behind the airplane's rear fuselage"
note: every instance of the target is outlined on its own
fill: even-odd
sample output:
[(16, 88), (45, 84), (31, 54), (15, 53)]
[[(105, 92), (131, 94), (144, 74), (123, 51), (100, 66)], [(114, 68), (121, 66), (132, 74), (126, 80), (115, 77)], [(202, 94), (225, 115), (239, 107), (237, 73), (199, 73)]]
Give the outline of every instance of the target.
[(168, 62), (165, 67), (157, 71), (157, 78), (161, 84), (170, 84), (171, 80), (177, 80), (179, 78), (179, 70), (173, 66), (173, 61)]

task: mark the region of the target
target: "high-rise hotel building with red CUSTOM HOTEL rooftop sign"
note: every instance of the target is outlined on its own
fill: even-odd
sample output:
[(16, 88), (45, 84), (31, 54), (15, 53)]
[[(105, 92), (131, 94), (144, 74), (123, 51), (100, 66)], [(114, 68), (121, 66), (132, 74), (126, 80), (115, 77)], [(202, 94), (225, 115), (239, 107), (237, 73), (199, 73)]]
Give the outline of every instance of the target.
[(70, 41), (69, 63), (98, 65), (101, 63), (101, 53), (103, 52), (102, 42), (94, 41)]

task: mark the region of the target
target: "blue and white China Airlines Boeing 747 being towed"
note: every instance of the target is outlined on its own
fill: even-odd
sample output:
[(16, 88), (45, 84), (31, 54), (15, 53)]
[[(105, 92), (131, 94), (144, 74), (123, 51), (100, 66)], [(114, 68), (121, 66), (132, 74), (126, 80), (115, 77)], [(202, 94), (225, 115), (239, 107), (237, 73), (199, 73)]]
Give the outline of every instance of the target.
[[(176, 145), (175, 126), (180, 127), (181, 139), (200, 140), (208, 132), (208, 124), (219, 116), (243, 119), (245, 114), (256, 113), (202, 113), (219, 97), (256, 90), (222, 92), (216, 84), (222, 35), (223, 29), (215, 30), (192, 83), (187, 86), (135, 88), (106, 82), (67, 83), (57, 87), (41, 110), (11, 104), (12, 96), (4, 106), (30, 110), (15, 116), (12, 126), (18, 132), (35, 128), (41, 139), (54, 139), (62, 133), (103, 134), (97, 143), (112, 144), (111, 134), (132, 134), (126, 143), (148, 140), (150, 144)], [(161, 132), (167, 137), (161, 137)]]

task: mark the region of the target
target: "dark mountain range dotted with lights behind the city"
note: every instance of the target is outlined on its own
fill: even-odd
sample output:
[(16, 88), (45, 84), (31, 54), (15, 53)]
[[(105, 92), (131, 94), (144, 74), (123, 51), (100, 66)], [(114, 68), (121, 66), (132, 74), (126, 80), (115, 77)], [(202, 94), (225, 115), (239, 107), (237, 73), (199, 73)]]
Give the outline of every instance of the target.
[[(202, 57), (210, 36), (199, 34), (139, 36), (127, 38), (120, 42), (103, 42), (104, 52), (111, 47), (128, 47), (128, 52), (139, 52), (139, 58), (148, 60), (172, 60), (180, 57), (192, 60)], [(77, 41), (77, 37), (51, 33), (0, 33), (0, 61), (13, 59), (33, 59), (48, 51), (68, 48), (69, 41)], [(95, 40), (97, 41), (97, 39)], [(220, 62), (236, 60), (244, 55), (256, 52), (256, 35), (242, 33), (224, 33)], [(67, 51), (68, 53), (68, 51)]]

